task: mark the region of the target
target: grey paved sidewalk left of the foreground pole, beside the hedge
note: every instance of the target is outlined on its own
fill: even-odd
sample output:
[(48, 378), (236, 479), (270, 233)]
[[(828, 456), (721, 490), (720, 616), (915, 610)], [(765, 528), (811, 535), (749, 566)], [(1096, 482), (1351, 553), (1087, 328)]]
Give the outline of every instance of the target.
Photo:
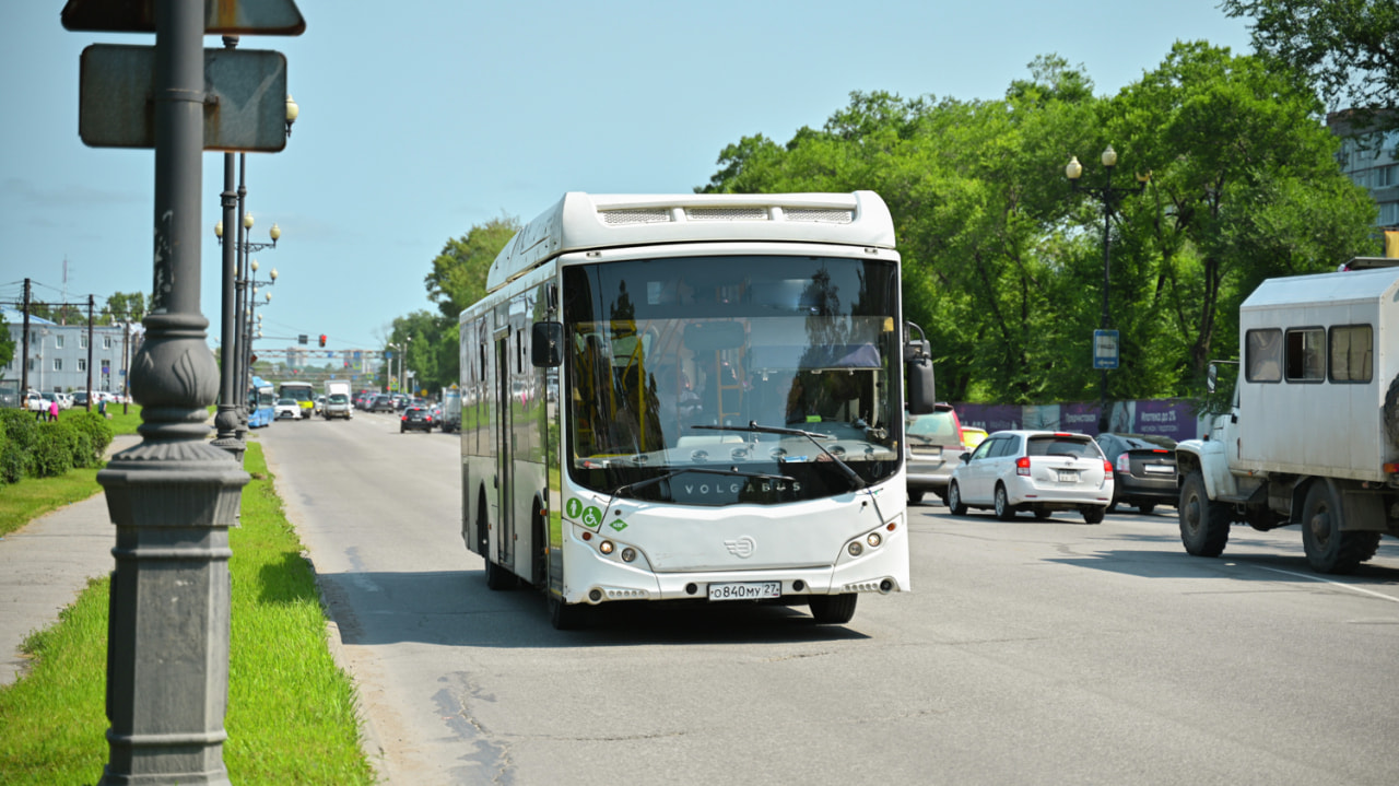
[[(111, 459), (140, 441), (120, 435), (106, 455)], [(116, 527), (102, 492), (0, 537), (0, 685), (18, 680), (27, 662), (20, 655), (24, 639), (56, 622), (90, 578), (112, 572), (113, 545)]]

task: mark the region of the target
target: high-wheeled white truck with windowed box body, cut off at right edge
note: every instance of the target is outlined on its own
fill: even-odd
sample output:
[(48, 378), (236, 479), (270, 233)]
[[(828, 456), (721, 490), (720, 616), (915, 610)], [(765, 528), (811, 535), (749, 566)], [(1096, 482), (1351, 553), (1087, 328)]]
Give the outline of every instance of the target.
[(1311, 566), (1349, 573), (1399, 536), (1399, 267), (1357, 262), (1240, 308), (1233, 407), (1177, 446), (1189, 554), (1219, 557), (1235, 522), (1301, 524)]

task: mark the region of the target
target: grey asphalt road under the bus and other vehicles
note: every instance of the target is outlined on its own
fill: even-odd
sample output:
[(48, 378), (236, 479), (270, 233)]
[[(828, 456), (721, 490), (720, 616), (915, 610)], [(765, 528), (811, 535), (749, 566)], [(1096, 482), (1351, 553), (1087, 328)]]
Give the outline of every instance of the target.
[(914, 592), (618, 610), (557, 632), (459, 536), (457, 445), (389, 415), (256, 432), (389, 783), (1399, 783), (1399, 541), (1188, 557), (1175, 510), (914, 508)]

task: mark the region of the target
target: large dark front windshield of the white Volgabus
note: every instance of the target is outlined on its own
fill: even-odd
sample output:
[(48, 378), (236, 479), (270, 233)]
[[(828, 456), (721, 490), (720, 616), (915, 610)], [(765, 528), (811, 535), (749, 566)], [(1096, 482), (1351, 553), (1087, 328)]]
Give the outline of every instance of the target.
[(564, 269), (562, 292), (567, 464), (588, 488), (775, 503), (897, 470), (893, 262), (611, 262)]

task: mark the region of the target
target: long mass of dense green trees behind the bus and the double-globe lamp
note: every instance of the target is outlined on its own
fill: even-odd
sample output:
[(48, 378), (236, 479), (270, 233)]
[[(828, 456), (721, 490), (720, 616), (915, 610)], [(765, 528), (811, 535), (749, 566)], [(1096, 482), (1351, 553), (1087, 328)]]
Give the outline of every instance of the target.
[(1095, 397), (1104, 201), (1116, 150), (1109, 326), (1122, 333), (1112, 399), (1198, 390), (1235, 352), (1237, 305), (1269, 276), (1333, 270), (1372, 253), (1374, 204), (1344, 178), (1321, 105), (1254, 57), (1178, 43), (1115, 97), (1058, 57), (997, 101), (853, 94), (821, 130), (726, 148), (706, 192), (879, 192), (905, 260), (908, 317), (937, 355), (939, 397), (1045, 403)]

